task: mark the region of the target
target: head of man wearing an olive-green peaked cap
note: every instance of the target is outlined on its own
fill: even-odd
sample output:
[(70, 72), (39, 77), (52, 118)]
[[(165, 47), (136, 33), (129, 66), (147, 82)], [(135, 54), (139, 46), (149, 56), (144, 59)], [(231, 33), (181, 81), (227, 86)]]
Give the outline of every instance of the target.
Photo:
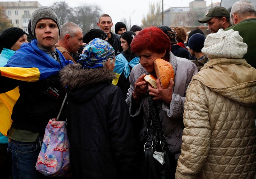
[(198, 22), (208, 24), (211, 33), (218, 32), (219, 29), (226, 29), (230, 24), (229, 12), (225, 7), (215, 6), (207, 11), (205, 17), (199, 19)]

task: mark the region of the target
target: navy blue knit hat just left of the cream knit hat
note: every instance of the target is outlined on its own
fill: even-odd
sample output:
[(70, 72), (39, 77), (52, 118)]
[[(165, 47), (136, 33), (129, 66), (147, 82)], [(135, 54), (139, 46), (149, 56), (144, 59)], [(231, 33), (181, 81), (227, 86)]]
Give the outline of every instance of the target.
[(188, 40), (188, 47), (196, 52), (201, 52), (204, 47), (205, 37), (202, 34), (194, 34)]

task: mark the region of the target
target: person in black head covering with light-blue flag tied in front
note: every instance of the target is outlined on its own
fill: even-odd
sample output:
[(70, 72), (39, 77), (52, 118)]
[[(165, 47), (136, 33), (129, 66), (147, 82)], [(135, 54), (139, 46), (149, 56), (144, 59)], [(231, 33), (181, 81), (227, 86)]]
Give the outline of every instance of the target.
[(137, 54), (131, 51), (131, 42), (136, 34), (132, 31), (124, 32), (121, 37), (121, 47), (123, 51), (116, 56), (114, 72), (116, 78), (114, 79), (114, 85), (121, 88), (124, 99), (130, 87), (129, 76), (132, 68), (139, 63), (140, 58)]

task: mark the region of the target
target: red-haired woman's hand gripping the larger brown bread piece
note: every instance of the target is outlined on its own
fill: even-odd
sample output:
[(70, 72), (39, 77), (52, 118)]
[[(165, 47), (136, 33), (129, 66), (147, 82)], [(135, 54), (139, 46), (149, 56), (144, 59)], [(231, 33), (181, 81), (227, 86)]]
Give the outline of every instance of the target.
[(154, 96), (153, 100), (161, 100), (166, 104), (170, 104), (172, 101), (172, 89), (174, 86), (173, 78), (170, 80), (170, 84), (166, 89), (163, 89), (159, 79), (156, 79), (157, 89), (152, 88), (150, 85), (148, 86), (149, 95)]

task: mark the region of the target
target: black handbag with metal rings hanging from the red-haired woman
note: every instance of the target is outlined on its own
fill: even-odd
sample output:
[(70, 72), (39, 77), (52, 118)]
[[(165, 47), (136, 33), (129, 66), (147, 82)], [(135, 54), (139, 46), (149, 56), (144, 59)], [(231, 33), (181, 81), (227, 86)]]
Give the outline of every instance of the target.
[[(148, 97), (148, 106), (149, 118), (146, 124), (145, 156), (142, 161), (143, 176), (145, 179), (175, 179), (175, 158), (168, 148), (168, 142), (164, 137), (158, 107), (156, 102), (153, 101), (152, 96)], [(155, 151), (164, 154), (163, 165), (153, 157)]]

